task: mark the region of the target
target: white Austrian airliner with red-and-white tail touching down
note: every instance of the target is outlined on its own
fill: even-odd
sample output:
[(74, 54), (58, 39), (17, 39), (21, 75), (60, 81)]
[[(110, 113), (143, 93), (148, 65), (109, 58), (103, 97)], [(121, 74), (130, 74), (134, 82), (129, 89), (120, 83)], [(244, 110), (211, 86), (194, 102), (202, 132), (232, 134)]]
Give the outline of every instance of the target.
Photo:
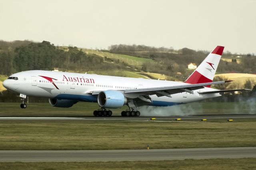
[(32, 70), (10, 75), (4, 80), (6, 89), (20, 94), (21, 108), (26, 108), (26, 96), (49, 98), (54, 107), (72, 107), (78, 101), (96, 102), (100, 109), (94, 116), (111, 116), (109, 109), (124, 105), (122, 116), (140, 116), (138, 107), (166, 107), (221, 96), (221, 93), (246, 89), (218, 90), (213, 82), (223, 46), (216, 46), (184, 82), (115, 77), (95, 74)]

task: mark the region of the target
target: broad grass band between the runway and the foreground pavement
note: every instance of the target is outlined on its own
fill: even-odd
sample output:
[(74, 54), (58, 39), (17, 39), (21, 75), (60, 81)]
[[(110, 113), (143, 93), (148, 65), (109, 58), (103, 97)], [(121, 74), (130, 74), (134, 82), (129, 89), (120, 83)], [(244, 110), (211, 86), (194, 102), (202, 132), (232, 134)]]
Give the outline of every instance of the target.
[(112, 150), (256, 146), (256, 121), (5, 120), (0, 150)]

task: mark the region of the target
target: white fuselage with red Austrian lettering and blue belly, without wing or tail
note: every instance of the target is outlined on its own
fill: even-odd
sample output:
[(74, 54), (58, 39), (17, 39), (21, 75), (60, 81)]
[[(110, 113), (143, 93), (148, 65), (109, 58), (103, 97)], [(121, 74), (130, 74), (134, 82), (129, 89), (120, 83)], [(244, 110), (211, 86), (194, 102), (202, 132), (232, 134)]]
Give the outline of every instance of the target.
[[(97, 96), (89, 94), (92, 91), (124, 91), (126, 89), (169, 87), (187, 84), (175, 81), (41, 70), (23, 71), (15, 73), (10, 77), (18, 77), (18, 80), (7, 79), (4, 81), (4, 86), (15, 93), (27, 96), (87, 102), (97, 102)], [(221, 96), (219, 93), (208, 95), (197, 93), (199, 91), (214, 90), (216, 89), (205, 87), (204, 89), (194, 90), (194, 94), (183, 92), (173, 94), (172, 97), (151, 95), (152, 103), (150, 105), (171, 106)]]

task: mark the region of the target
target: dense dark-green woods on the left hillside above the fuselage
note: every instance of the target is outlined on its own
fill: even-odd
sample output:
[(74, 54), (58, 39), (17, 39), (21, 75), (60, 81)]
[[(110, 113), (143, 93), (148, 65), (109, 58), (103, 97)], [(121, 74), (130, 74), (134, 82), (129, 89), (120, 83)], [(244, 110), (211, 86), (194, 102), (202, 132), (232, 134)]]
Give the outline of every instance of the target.
[(86, 54), (78, 47), (60, 49), (50, 42), (0, 42), (0, 74), (10, 75), (26, 70), (52, 70), (54, 67), (72, 71), (118, 69), (115, 63), (104, 62), (95, 54)]

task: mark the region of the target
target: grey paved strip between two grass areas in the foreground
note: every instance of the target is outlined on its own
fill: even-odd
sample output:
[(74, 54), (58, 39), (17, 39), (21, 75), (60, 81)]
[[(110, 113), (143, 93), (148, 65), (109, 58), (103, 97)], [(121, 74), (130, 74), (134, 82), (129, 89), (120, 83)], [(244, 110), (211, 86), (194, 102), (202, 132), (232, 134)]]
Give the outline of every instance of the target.
[(0, 150), (0, 162), (77, 162), (256, 158), (256, 147), (150, 150)]

